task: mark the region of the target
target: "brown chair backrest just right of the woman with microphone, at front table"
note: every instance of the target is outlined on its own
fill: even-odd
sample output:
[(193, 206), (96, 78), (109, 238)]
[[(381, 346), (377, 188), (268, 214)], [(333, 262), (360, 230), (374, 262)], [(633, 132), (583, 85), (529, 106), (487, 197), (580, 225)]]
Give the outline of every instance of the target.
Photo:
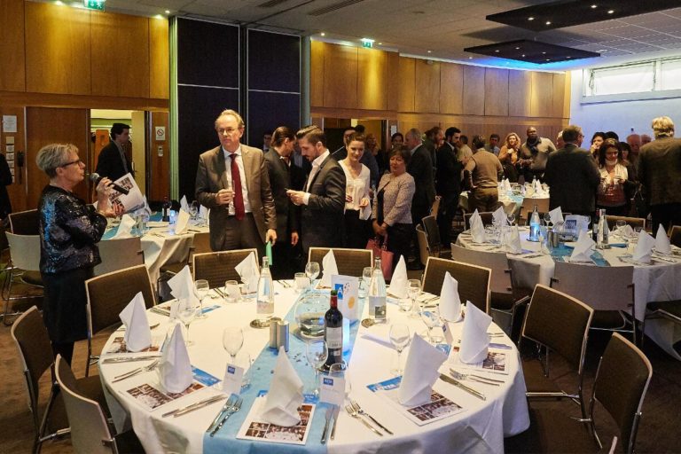
[(152, 281), (145, 265), (112, 271), (85, 281), (88, 295), (88, 337), (121, 321), (118, 317), (138, 292), (146, 308), (155, 304)]

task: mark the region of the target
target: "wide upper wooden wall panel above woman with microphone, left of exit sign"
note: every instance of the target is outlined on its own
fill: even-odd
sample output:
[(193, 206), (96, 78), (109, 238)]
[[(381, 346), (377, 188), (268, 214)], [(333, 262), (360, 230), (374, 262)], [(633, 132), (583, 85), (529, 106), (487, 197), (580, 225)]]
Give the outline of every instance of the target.
[(26, 90), (90, 94), (90, 12), (26, 2)]

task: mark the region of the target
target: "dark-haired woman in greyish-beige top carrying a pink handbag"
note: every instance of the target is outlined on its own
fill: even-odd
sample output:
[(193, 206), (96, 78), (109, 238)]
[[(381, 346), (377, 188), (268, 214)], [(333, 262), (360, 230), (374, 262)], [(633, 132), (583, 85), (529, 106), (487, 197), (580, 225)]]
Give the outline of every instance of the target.
[(416, 190), (414, 178), (407, 173), (410, 158), (411, 154), (406, 146), (390, 152), (390, 173), (380, 178), (378, 191), (373, 199), (373, 231), (387, 241), (387, 250), (393, 253), (393, 270), (401, 255), (405, 261), (409, 257), (413, 230), (411, 199)]

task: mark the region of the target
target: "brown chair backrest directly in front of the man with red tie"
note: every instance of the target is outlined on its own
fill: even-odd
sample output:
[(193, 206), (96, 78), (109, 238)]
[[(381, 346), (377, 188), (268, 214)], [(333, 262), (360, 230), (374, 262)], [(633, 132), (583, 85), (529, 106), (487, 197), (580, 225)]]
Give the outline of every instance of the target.
[(257, 249), (237, 249), (234, 251), (209, 252), (194, 254), (192, 257), (192, 272), (194, 280), (206, 279), (211, 288), (224, 286), (227, 280), (239, 281), (239, 273), (234, 267), (244, 260), (248, 254), (255, 254), (258, 263)]

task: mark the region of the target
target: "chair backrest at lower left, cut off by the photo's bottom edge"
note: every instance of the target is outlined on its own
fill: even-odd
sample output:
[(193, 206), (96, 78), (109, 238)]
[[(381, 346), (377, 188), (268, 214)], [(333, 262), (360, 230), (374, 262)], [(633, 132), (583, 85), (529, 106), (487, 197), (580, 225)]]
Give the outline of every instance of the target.
[(56, 376), (67, 408), (71, 426), (71, 444), (75, 452), (111, 454), (116, 452), (114, 437), (109, 432), (104, 411), (95, 401), (82, 395), (76, 386), (74, 372), (61, 356), (57, 356)]

